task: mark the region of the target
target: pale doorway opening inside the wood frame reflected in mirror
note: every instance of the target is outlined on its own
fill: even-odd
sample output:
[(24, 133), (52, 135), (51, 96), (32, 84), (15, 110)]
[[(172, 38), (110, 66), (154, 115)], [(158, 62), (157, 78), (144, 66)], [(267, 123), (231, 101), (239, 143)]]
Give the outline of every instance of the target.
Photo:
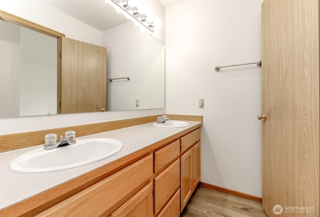
[(0, 20), (0, 117), (56, 114), (57, 38)]

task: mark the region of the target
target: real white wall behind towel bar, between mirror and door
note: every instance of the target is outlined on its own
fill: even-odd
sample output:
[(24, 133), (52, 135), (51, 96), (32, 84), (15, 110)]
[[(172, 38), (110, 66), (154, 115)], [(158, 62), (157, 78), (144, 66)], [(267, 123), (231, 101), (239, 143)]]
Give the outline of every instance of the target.
[(256, 196), (261, 68), (213, 68), (261, 58), (261, 2), (185, 0), (165, 9), (165, 112), (203, 115), (201, 181)]

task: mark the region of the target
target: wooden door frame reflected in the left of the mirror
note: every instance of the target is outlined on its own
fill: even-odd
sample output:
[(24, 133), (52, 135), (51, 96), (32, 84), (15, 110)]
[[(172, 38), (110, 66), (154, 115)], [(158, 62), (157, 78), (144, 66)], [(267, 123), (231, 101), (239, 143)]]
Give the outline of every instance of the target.
[(56, 97), (56, 113), (61, 113), (61, 41), (62, 37), (65, 36), (65, 34), (60, 33), (58, 31), (55, 31), (53, 29), (47, 28), (43, 25), (39, 25), (37, 23), (31, 22), (29, 20), (23, 19), (21, 17), (15, 16), (11, 13), (5, 12), (3, 10), (0, 10), (0, 19), (25, 27), (29, 28), (31, 30), (55, 37), (57, 39), (57, 97)]

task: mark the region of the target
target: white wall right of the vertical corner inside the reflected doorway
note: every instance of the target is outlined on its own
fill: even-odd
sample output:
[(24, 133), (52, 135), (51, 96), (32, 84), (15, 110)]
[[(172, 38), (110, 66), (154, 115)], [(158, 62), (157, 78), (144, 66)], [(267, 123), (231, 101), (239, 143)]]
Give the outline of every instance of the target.
[(21, 27), (20, 116), (56, 114), (56, 38)]

